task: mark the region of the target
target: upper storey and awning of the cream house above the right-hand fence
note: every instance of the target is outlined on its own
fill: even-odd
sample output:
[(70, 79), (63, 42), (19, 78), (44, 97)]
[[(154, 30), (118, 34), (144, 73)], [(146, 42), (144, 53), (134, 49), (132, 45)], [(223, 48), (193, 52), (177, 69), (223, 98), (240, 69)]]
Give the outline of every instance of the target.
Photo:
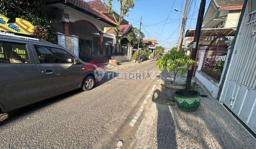
[[(244, 0), (211, 0), (203, 18), (201, 36), (213, 40), (219, 35), (233, 38)], [(193, 37), (195, 29), (185, 36)]]

